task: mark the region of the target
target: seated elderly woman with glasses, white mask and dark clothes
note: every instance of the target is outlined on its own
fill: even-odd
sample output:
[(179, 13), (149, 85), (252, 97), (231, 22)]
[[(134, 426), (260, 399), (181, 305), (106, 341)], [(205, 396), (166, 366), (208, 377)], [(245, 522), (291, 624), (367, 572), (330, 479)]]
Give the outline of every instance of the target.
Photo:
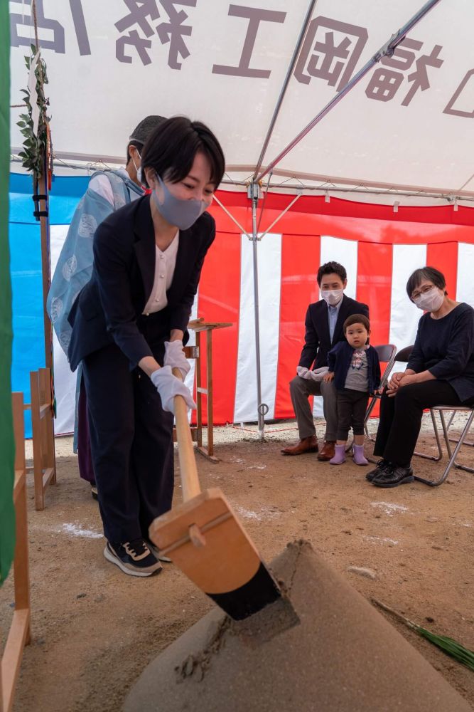
[(424, 409), (474, 403), (474, 310), (448, 297), (446, 280), (433, 267), (417, 269), (406, 292), (426, 312), (419, 320), (406, 371), (394, 373), (380, 403), (374, 454), (367, 473), (377, 487), (414, 481), (411, 458)]

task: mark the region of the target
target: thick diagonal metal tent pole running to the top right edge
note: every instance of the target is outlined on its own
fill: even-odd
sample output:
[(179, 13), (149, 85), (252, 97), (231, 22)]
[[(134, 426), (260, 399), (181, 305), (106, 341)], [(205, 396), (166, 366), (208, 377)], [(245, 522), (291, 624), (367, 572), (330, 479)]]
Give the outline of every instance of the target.
[(388, 42), (386, 42), (378, 52), (375, 53), (375, 55), (360, 69), (357, 74), (352, 77), (350, 81), (343, 87), (338, 94), (336, 94), (328, 104), (325, 105), (323, 109), (318, 113), (316, 117), (313, 118), (312, 121), (308, 123), (306, 127), (303, 128), (302, 131), (298, 133), (298, 135), (289, 143), (289, 145), (284, 148), (281, 153), (273, 160), (271, 163), (269, 163), (266, 168), (262, 170), (262, 172), (258, 175), (257, 178), (254, 177), (255, 181), (261, 181), (262, 178), (266, 176), (269, 172), (271, 172), (279, 162), (281, 162), (282, 159), (296, 146), (298, 145), (299, 142), (318, 124), (323, 117), (325, 117), (326, 114), (330, 112), (331, 109), (337, 105), (340, 100), (345, 97), (346, 94), (350, 92), (352, 88), (355, 87), (357, 83), (360, 82), (360, 80), (369, 72), (372, 67), (384, 56), (389, 56), (391, 57), (394, 53), (394, 50), (397, 48), (400, 42), (404, 40), (406, 37), (406, 34), (409, 33), (409, 31), (418, 23), (422, 17), (426, 15), (427, 12), (431, 10), (436, 4), (438, 4), (440, 0), (429, 0), (424, 4), (424, 6), (406, 23), (402, 28), (399, 29), (397, 33), (392, 35), (392, 37), (389, 39)]

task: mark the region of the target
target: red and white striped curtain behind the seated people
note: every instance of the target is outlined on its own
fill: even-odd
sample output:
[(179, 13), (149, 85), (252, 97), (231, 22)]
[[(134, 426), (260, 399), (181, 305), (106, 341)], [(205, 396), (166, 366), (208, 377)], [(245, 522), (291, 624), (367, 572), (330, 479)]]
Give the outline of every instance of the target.
[[(239, 224), (250, 229), (247, 196), (238, 192), (218, 195)], [(261, 233), (291, 199), (269, 195)], [(217, 204), (211, 211), (217, 236), (205, 260), (193, 317), (232, 323), (212, 335), (214, 422), (253, 422), (257, 420), (257, 380), (252, 242)], [(316, 273), (328, 261), (345, 266), (348, 296), (369, 305), (372, 344), (392, 343), (401, 349), (414, 342), (421, 316), (405, 291), (414, 269), (426, 264), (440, 269), (448, 293), (474, 305), (474, 210), (399, 206), (394, 213), (387, 205), (298, 199), (258, 244), (262, 401), (269, 406), (267, 420), (293, 417), (288, 384), (303, 345), (306, 309), (320, 298)], [(60, 372), (58, 364), (57, 392), (61, 391)], [(73, 403), (70, 395), (63, 401), (65, 415)], [(63, 420), (61, 413), (58, 416)]]

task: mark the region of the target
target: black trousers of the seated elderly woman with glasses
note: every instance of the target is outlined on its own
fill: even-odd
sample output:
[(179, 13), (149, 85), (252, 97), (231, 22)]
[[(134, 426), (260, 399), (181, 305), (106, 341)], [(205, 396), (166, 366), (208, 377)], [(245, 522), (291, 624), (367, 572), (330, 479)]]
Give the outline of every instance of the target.
[(402, 386), (393, 398), (382, 394), (374, 454), (408, 467), (421, 429), (421, 416), (435, 405), (467, 405), (460, 402), (447, 381), (432, 380)]

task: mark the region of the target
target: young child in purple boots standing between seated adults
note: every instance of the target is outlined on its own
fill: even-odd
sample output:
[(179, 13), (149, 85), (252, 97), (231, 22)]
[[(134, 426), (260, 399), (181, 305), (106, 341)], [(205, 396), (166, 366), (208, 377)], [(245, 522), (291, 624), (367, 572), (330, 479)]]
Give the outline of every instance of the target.
[(325, 381), (332, 381), (337, 392), (338, 433), (335, 456), (331, 465), (345, 462), (345, 447), (349, 430), (354, 433), (354, 462), (368, 465), (364, 457), (364, 419), (369, 396), (378, 391), (380, 384), (379, 356), (367, 344), (370, 322), (363, 314), (352, 314), (344, 322), (347, 341), (340, 341), (328, 353), (328, 373)]

